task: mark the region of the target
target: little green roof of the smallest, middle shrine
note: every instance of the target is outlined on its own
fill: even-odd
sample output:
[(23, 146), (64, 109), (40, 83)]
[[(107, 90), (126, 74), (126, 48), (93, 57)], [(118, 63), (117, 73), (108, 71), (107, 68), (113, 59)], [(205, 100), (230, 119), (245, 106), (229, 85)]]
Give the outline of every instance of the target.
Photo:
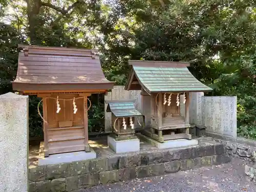
[(110, 102), (106, 108), (106, 112), (112, 112), (116, 117), (133, 117), (141, 115), (141, 113), (135, 109), (132, 102)]

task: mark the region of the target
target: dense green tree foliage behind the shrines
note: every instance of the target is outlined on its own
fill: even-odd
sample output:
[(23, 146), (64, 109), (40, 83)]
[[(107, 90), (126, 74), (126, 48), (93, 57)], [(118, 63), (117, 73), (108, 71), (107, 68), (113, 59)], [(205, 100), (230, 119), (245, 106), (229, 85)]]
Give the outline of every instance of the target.
[[(119, 85), (127, 80), (129, 59), (190, 61), (189, 70), (214, 88), (211, 95), (237, 95), (238, 133), (256, 138), (254, 1), (107, 2), (0, 1), (0, 93), (12, 91), (21, 42), (97, 48), (105, 76)], [(89, 131), (101, 132), (103, 96), (90, 99)], [(38, 101), (30, 97), (33, 137), (42, 134)]]

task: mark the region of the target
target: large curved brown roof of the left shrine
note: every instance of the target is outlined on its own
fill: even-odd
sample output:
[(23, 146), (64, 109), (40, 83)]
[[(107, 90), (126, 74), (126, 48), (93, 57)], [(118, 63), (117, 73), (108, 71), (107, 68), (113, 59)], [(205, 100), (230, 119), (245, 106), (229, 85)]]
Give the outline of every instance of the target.
[(16, 91), (108, 90), (114, 82), (102, 72), (96, 50), (25, 46), (12, 82)]

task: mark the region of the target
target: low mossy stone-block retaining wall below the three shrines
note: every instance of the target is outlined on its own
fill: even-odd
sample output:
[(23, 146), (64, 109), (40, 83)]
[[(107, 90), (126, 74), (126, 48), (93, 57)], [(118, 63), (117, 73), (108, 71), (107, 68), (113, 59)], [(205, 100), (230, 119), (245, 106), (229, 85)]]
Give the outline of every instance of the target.
[(29, 169), (29, 192), (77, 191), (100, 183), (176, 173), (179, 170), (229, 161), (225, 145), (217, 144), (44, 165)]

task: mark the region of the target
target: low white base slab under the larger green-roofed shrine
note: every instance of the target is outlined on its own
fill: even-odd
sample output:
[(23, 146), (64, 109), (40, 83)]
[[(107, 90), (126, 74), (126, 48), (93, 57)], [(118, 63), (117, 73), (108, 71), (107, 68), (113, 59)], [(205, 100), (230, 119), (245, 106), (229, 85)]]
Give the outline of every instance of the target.
[(164, 141), (163, 143), (160, 143), (150, 137), (147, 137), (142, 134), (137, 134), (137, 136), (141, 139), (144, 140), (147, 143), (152, 144), (153, 146), (157, 147), (158, 149), (164, 149), (164, 148), (177, 148), (177, 147), (184, 147), (184, 146), (191, 146), (191, 145), (198, 145), (198, 140), (197, 139), (175, 139), (175, 140), (167, 140)]

